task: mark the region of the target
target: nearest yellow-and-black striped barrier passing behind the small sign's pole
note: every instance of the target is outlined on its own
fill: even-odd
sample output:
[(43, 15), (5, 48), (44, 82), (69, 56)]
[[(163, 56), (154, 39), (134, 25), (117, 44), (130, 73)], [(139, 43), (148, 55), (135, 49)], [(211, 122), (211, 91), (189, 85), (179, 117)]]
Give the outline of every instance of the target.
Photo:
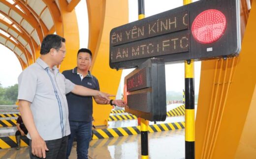
[[(161, 132), (161, 131), (182, 129), (184, 127), (185, 127), (185, 122), (177, 122), (177, 123), (149, 125), (148, 129), (149, 129), (149, 132)], [(93, 139), (136, 135), (136, 134), (140, 134), (140, 126), (95, 129), (93, 130), (93, 132), (94, 132)]]

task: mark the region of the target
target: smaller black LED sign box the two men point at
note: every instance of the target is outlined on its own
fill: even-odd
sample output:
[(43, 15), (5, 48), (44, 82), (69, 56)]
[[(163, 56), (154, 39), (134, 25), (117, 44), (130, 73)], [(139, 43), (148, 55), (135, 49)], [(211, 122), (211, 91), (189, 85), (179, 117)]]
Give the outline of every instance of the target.
[(149, 121), (165, 121), (165, 66), (162, 59), (148, 59), (125, 77), (126, 112)]

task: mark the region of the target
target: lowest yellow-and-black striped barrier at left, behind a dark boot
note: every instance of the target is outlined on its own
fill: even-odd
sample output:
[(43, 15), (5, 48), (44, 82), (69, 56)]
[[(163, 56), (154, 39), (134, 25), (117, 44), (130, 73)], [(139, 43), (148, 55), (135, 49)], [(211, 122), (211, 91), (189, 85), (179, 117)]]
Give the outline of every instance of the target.
[[(29, 146), (29, 139), (27, 136), (21, 137), (21, 147)], [(15, 136), (0, 137), (0, 149), (9, 149), (17, 146)]]

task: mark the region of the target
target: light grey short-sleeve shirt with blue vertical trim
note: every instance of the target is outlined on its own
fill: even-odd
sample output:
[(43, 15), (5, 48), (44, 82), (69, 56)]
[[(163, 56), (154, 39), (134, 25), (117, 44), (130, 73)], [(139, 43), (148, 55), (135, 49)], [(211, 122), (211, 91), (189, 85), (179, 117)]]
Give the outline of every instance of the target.
[[(18, 83), (18, 99), (31, 102), (33, 120), (40, 136), (47, 141), (69, 135), (65, 94), (71, 92), (75, 84), (56, 66), (50, 69), (40, 58), (19, 75)], [(30, 135), (28, 137), (31, 139)]]

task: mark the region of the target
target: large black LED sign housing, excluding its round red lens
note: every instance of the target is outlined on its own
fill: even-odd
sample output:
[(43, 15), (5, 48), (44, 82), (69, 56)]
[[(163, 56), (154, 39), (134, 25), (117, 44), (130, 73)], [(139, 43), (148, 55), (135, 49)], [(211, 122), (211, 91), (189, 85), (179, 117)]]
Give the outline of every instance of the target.
[[(149, 58), (165, 63), (236, 56), (241, 48), (239, 0), (199, 0), (114, 28), (110, 32), (111, 68), (137, 67)], [(192, 36), (192, 23), (208, 9), (226, 18), (224, 34), (203, 44)]]

